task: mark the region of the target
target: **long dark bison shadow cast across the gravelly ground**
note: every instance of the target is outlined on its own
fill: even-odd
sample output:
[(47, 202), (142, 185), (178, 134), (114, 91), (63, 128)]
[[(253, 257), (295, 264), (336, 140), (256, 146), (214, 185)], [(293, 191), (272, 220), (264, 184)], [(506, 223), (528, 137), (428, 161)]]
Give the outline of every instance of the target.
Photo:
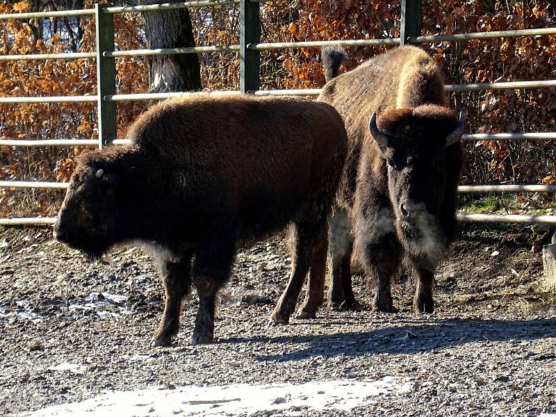
[[(531, 341), (556, 337), (555, 319), (484, 320), (442, 319), (433, 324), (386, 327), (370, 332), (347, 332), (275, 338), (230, 338), (219, 343), (283, 343), (304, 345), (285, 354), (260, 356), (259, 361), (301, 361), (311, 357), (363, 354), (435, 352), (474, 342)], [(309, 345), (309, 347), (306, 347)], [(555, 355), (556, 357), (556, 355)]]

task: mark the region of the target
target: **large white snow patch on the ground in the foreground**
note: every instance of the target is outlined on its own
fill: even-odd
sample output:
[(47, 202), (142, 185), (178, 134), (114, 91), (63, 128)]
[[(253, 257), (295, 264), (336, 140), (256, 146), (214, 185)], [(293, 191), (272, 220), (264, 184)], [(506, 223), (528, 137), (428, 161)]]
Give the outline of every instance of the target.
[(305, 384), (233, 384), (176, 389), (113, 391), (97, 398), (25, 413), (29, 417), (229, 416), (258, 411), (349, 410), (372, 404), (377, 395), (403, 393), (411, 383), (394, 377), (371, 381), (333, 380)]

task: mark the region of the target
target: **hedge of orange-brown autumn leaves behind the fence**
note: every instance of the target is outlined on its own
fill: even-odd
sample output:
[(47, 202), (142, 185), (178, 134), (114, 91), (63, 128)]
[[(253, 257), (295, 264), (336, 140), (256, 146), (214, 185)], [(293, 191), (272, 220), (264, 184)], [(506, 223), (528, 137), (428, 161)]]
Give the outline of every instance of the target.
[[(92, 7), (92, 1), (85, 4)], [(423, 2), (423, 34), (501, 31), (554, 26), (553, 2), (433, 0)], [(28, 11), (31, 2), (1, 3), (0, 13)], [(238, 44), (237, 6), (190, 10), (197, 44)], [(295, 0), (263, 3), (262, 42), (366, 39), (399, 36), (399, 1)], [(31, 24), (0, 22), (0, 54), (41, 54), (69, 50), (60, 35), (36, 39)], [(95, 24), (81, 17), (79, 51), (95, 50)], [(137, 13), (116, 15), (120, 49), (145, 47)], [(536, 36), (423, 44), (443, 65), (447, 83), (487, 83), (556, 79), (556, 36)], [(356, 67), (387, 47), (350, 47), (343, 70)], [(201, 54), (202, 82), (208, 90), (238, 90), (237, 53)], [(320, 49), (261, 52), (261, 88), (320, 88)], [(141, 57), (117, 59), (117, 91), (145, 92), (147, 70)], [(95, 95), (94, 59), (0, 61), (0, 94), (9, 97)], [(453, 92), (455, 108), (467, 108), (469, 132), (556, 131), (556, 92), (548, 89)], [(118, 137), (150, 105), (118, 106)], [(96, 138), (95, 104), (0, 105), (1, 138)], [(464, 182), (554, 183), (554, 142), (478, 142), (468, 145)], [(0, 179), (67, 181), (82, 148), (0, 147)], [(51, 215), (62, 193), (0, 189), (0, 216)]]

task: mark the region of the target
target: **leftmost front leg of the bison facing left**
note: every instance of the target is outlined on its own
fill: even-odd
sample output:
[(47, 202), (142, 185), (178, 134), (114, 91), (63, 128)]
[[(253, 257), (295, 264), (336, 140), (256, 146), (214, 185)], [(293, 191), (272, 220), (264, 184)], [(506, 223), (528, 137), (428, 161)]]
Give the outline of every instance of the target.
[(187, 252), (178, 262), (163, 258), (157, 260), (165, 288), (165, 306), (152, 346), (170, 345), (172, 336), (178, 332), (181, 302), (190, 288), (192, 256), (193, 252)]

